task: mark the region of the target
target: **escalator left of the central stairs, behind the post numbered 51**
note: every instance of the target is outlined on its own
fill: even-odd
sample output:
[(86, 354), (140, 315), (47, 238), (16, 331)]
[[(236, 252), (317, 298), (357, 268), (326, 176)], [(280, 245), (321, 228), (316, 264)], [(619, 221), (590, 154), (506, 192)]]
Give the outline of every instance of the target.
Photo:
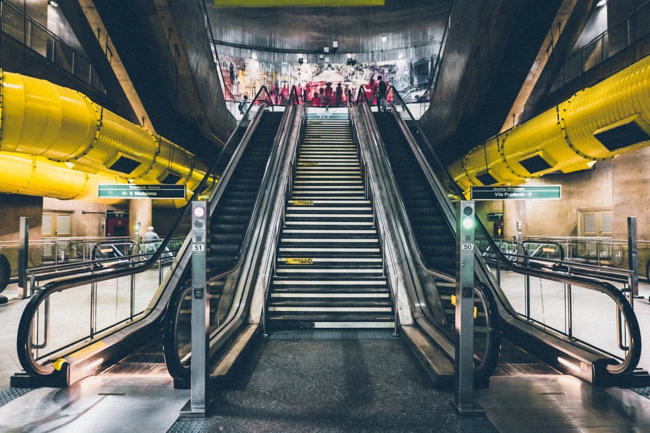
[[(271, 108), (266, 88), (262, 88), (246, 113), (250, 122), (239, 124), (192, 197), (199, 200), (200, 192), (220, 175), (209, 197), (211, 215), (215, 216), (211, 220), (212, 244), (220, 245), (214, 247), (215, 258), (209, 263), (212, 274), (237, 261), (257, 190), (274, 154), (272, 144), (282, 114)], [(17, 339), (25, 373), (14, 376), (12, 385), (66, 386), (104, 371), (160, 334), (170, 298), (186, 286), (190, 274), (188, 209), (190, 203), (146, 261), (36, 288), (21, 317)], [(159, 285), (158, 278), (151, 276), (162, 274), (157, 261), (178, 237), (185, 242)], [(215, 302), (220, 302), (222, 289), (213, 288)]]

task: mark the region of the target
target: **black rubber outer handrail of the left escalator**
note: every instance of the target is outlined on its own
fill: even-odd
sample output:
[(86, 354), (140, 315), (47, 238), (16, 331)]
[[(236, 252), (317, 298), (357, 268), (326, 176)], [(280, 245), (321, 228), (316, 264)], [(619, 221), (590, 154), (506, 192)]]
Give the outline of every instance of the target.
[[(266, 98), (261, 98), (264, 95), (266, 96)], [(268, 107), (268, 104), (270, 103), (270, 98), (268, 97), (268, 90), (266, 90), (265, 86), (262, 86), (259, 89), (259, 91), (255, 95), (255, 98), (253, 98), (251, 105), (248, 107), (246, 114), (248, 114), (253, 104), (258, 99), (261, 99), (261, 103), (259, 105), (264, 105), (265, 107)], [(260, 110), (256, 118), (258, 118), (261, 115), (261, 111), (263, 110)], [(149, 259), (137, 265), (132, 265), (131, 267), (128, 267), (126, 269), (108, 270), (107, 272), (101, 272), (99, 274), (94, 274), (90, 276), (78, 276), (75, 278), (55, 280), (53, 282), (49, 282), (45, 284), (44, 287), (40, 287), (38, 288), (38, 290), (35, 291), (34, 295), (31, 296), (31, 299), (29, 300), (27, 306), (25, 306), (25, 309), (23, 310), (23, 314), (21, 315), (21, 319), (19, 322), (18, 335), (16, 338), (16, 348), (18, 352), (18, 358), (21, 363), (21, 367), (23, 367), (23, 370), (27, 374), (29, 374), (30, 376), (44, 376), (52, 373), (51, 368), (47, 368), (47, 369), (42, 368), (42, 366), (38, 365), (36, 361), (32, 358), (31, 348), (29, 344), (29, 342), (31, 341), (32, 318), (36, 314), (36, 311), (38, 311), (38, 308), (40, 307), (42, 302), (44, 302), (44, 300), (47, 298), (47, 296), (50, 296), (52, 293), (64, 291), (66, 289), (71, 289), (72, 287), (78, 287), (79, 285), (98, 283), (106, 280), (111, 280), (113, 278), (131, 276), (131, 275), (138, 274), (140, 272), (144, 272), (148, 269), (151, 269), (151, 267), (153, 267), (155, 263), (157, 263), (157, 261), (162, 256), (162, 254), (165, 253), (165, 249), (167, 245), (170, 243), (171, 239), (175, 235), (175, 232), (178, 230), (179, 226), (181, 225), (185, 217), (190, 212), (190, 209), (192, 207), (192, 201), (198, 200), (198, 198), (201, 195), (201, 192), (207, 185), (208, 181), (210, 180), (212, 180), (213, 182), (216, 181), (213, 173), (216, 171), (219, 164), (222, 163), (222, 160), (226, 157), (226, 155), (228, 157), (230, 156), (229, 153), (227, 153), (229, 148), (235, 146), (236, 147), (235, 153), (237, 153), (237, 151), (243, 151), (242, 146), (239, 146), (239, 144), (242, 145), (248, 144), (248, 142), (245, 142), (245, 140), (243, 139), (241, 141), (233, 140), (233, 137), (235, 137), (237, 130), (239, 129), (240, 126), (242, 126), (244, 119), (245, 117), (242, 118), (242, 120), (240, 120), (239, 124), (237, 124), (237, 127), (228, 138), (228, 141), (226, 142), (226, 146), (222, 148), (218, 157), (216, 157), (213, 164), (211, 165), (210, 169), (207, 170), (205, 176), (203, 176), (203, 179), (201, 179), (199, 185), (196, 187), (196, 189), (194, 189), (191, 198), (188, 200), (187, 204), (179, 214), (179, 217), (172, 225), (172, 228), (170, 228), (168, 235), (162, 240), (161, 245), (151, 255), (151, 257), (149, 257)], [(213, 190), (213, 194), (215, 194), (217, 190), (224, 189), (226, 185), (227, 182), (225, 183), (219, 182), (218, 187)], [(151, 311), (153, 311), (153, 309)], [(151, 313), (151, 311), (149, 311), (149, 313)], [(149, 313), (147, 313), (145, 317), (148, 316)]]

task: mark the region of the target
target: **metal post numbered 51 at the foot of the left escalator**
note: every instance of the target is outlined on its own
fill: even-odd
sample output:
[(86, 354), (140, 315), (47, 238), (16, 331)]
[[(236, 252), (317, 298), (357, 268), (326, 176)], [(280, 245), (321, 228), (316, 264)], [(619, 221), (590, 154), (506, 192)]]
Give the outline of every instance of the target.
[(205, 417), (209, 408), (206, 397), (210, 326), (205, 279), (205, 244), (209, 236), (207, 209), (207, 202), (192, 202), (192, 389), (190, 400), (181, 409), (181, 415), (192, 417)]

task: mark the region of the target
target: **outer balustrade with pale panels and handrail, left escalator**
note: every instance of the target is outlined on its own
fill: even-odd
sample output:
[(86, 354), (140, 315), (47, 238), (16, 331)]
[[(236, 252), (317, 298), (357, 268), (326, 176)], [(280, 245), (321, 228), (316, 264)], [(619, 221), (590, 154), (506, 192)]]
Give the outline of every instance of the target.
[[(265, 101), (266, 89), (263, 88), (248, 112), (252, 112), (253, 107), (255, 111), (265, 107)], [(261, 112), (256, 118), (260, 115)], [(241, 122), (239, 127), (242, 127)], [(233, 139), (235, 137), (237, 140)], [(226, 161), (239, 159), (240, 143), (246, 139), (244, 134), (240, 141), (239, 135), (233, 132), (189, 202), (198, 200), (200, 191), (216, 181), (214, 175), (222, 170)], [(224, 178), (227, 176), (227, 172), (224, 173), (213, 190), (213, 197), (226, 187)], [(158, 326), (170, 297), (184, 282), (184, 271), (189, 263), (190, 204), (181, 209), (169, 234), (153, 254), (138, 254), (138, 259), (133, 259), (126, 267), (96, 270), (90, 275), (72, 276), (34, 287), (34, 295), (21, 316), (17, 337), (18, 358), (27, 374), (45, 382), (75, 382), (107, 363), (110, 365), (115, 360), (113, 357), (127, 350), (130, 337), (148, 335)], [(168, 248), (178, 237), (185, 241), (177, 257), (166, 267)], [(166, 268), (161, 284), (159, 263)]]

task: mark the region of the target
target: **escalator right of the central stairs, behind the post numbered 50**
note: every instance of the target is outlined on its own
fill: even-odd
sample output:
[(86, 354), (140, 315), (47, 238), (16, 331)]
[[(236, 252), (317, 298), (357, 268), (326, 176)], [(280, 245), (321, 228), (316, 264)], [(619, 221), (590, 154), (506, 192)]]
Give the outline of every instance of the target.
[[(417, 130), (413, 131), (415, 124), (410, 122), (411, 127), (407, 126), (403, 117), (411, 121), (412, 117), (394, 88), (391, 88), (391, 94), (394, 103), (389, 106), (389, 112), (374, 112), (372, 116), (367, 114), (369, 118), (367, 123), (371, 124), (369, 129), (376, 131), (378, 147), (385, 152), (383, 154), (387, 159), (387, 170), (394, 179), (395, 191), (399, 196), (395, 198), (399, 203), (396, 207), (401, 207), (404, 214), (402, 228), (407, 233), (407, 238), (412, 236), (413, 254), (421, 259), (426, 269), (454, 276), (456, 273), (455, 209), (448, 200), (447, 190), (437, 179), (437, 176), (447, 176), (446, 170), (439, 164), (435, 152), (421, 131), (417, 127), (415, 128)], [(362, 99), (361, 95), (360, 99)], [(363, 105), (364, 101), (361, 103)], [(370, 111), (369, 107), (365, 109), (367, 112)], [(432, 166), (436, 167), (436, 172)], [(461, 191), (454, 192), (456, 196), (462, 196)], [(486, 237), (493, 243), (478, 220), (477, 227), (479, 230), (477, 235)], [(496, 247), (493, 249), (499, 251)], [(478, 255), (476, 256), (476, 280), (484, 287), (486, 293), (497, 300), (504, 335), (508, 336), (515, 346), (526, 348), (536, 354), (551, 367), (546, 371), (556, 369), (595, 384), (616, 383), (617, 380), (628, 380), (635, 374), (640, 357), (640, 330), (625, 294), (612, 285), (595, 279), (527, 269), (504, 257), (499, 257), (499, 260), (500, 263), (502, 262), (500, 266), (503, 269), (512, 272), (511, 279), (518, 282), (519, 280), (516, 279), (519, 278), (521, 288), (526, 287), (524, 307), (519, 308), (521, 301), (512, 297), (512, 291), (504, 291), (496, 283), (493, 270), (487, 267)], [(430, 300), (427, 304), (441, 306), (438, 309), (429, 308), (429, 311), (424, 311), (424, 316), (438, 326), (448, 327), (454, 322), (455, 309), (452, 306), (452, 296), (456, 293), (455, 283), (438, 283), (435, 276), (433, 278), (424, 276), (422, 272), (419, 272), (418, 276), (418, 283), (428, 287), (421, 291)], [(544, 319), (543, 312), (542, 319), (530, 313), (535, 309), (535, 306), (531, 307), (530, 304), (536, 299), (530, 293), (530, 281), (537, 279), (539, 279), (540, 302), (544, 300), (543, 285), (548, 287), (552, 284), (558, 285), (560, 287), (558, 293), (563, 293), (561, 290), (564, 285), (564, 296), (568, 299), (565, 301), (565, 309), (571, 310), (565, 313), (567, 316), (564, 318), (565, 324), (552, 323), (551, 325), (552, 320)], [(585, 337), (587, 332), (584, 329), (597, 326), (598, 322), (603, 321), (602, 318), (596, 318), (593, 313), (586, 311), (586, 314), (580, 312), (580, 317), (582, 320), (590, 320), (590, 324), (572, 322), (573, 317), (578, 317), (578, 312), (574, 312), (573, 309), (579, 309), (581, 305), (578, 305), (578, 302), (571, 302), (575, 297), (571, 295), (571, 290), (573, 288), (573, 293), (578, 293), (578, 287), (580, 298), (589, 299), (589, 302), (593, 303), (609, 302), (612, 311), (616, 312), (611, 315), (613, 330), (608, 330), (609, 334), (612, 334), (612, 339), (616, 340), (611, 347), (599, 345), (597, 339), (590, 340)], [(551, 289), (546, 289), (546, 293), (551, 293)], [(550, 296), (547, 295), (547, 298)], [(480, 325), (476, 323), (476, 326)], [(580, 329), (580, 335), (575, 332), (577, 329)], [(510, 354), (515, 352), (519, 354), (519, 351), (512, 349), (513, 345), (510, 343), (506, 343), (504, 347), (508, 347), (506, 352)], [(502, 364), (509, 362), (507, 354), (503, 358)], [(530, 362), (530, 358), (525, 357), (525, 361), (521, 362)], [(506, 369), (500, 369), (500, 371), (504, 370)], [(640, 372), (637, 370), (636, 373)]]

